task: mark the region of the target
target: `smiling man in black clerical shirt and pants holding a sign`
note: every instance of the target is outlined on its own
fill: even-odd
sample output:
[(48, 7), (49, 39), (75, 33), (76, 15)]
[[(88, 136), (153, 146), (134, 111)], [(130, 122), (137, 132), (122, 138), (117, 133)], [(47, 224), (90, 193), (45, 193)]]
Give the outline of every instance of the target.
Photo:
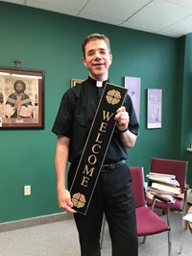
[(74, 214), (82, 256), (101, 255), (100, 233), (104, 213), (108, 220), (112, 256), (136, 256), (132, 176), (125, 160), (128, 158), (127, 147), (131, 148), (136, 141), (138, 123), (129, 95), (125, 106), (119, 108), (115, 115), (117, 122), (105, 165), (85, 216), (74, 211), (70, 192), (65, 188), (67, 162), (71, 163), (68, 174), (70, 188), (98, 107), (100, 90), (108, 82), (108, 67), (112, 63), (109, 40), (104, 35), (91, 34), (84, 38), (83, 52), (88, 79), (63, 95), (52, 130), (58, 135), (55, 164), (59, 205)]

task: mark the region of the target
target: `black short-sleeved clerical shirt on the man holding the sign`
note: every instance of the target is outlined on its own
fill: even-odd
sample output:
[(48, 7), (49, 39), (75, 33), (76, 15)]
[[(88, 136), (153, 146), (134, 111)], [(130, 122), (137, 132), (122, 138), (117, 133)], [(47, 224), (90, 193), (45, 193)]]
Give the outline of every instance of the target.
[[(103, 88), (107, 82), (103, 82)], [(70, 163), (78, 163), (81, 158), (84, 143), (98, 107), (100, 94), (101, 89), (96, 87), (96, 81), (88, 77), (82, 84), (67, 90), (62, 96), (52, 132), (70, 139)], [(129, 130), (138, 135), (138, 122), (129, 94), (126, 95), (124, 106), (130, 115)], [(118, 130), (115, 129), (104, 164), (115, 163), (127, 158), (127, 148), (121, 142)]]

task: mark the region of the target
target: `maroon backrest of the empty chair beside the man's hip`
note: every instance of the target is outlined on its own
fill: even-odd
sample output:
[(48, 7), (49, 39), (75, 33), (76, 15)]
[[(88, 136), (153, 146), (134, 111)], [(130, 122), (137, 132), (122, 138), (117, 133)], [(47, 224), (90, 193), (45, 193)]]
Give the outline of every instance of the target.
[(141, 207), (146, 204), (144, 192), (144, 173), (143, 167), (130, 167), (132, 173), (132, 192), (135, 201), (135, 207)]

